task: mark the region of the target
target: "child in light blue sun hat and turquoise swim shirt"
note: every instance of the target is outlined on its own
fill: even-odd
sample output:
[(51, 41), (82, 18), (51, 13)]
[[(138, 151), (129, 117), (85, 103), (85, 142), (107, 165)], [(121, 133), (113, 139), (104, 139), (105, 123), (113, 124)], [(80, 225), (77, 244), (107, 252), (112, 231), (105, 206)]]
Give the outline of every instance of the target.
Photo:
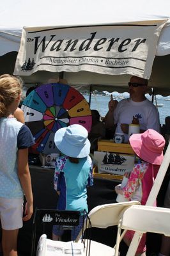
[[(87, 186), (93, 186), (88, 131), (79, 124), (61, 128), (55, 134), (54, 143), (64, 154), (57, 159), (54, 173), (54, 189), (59, 195), (57, 209), (88, 212)], [(82, 217), (79, 226), (72, 230), (72, 240), (75, 240), (82, 228)], [(61, 240), (63, 233), (62, 226), (54, 225), (52, 239)]]

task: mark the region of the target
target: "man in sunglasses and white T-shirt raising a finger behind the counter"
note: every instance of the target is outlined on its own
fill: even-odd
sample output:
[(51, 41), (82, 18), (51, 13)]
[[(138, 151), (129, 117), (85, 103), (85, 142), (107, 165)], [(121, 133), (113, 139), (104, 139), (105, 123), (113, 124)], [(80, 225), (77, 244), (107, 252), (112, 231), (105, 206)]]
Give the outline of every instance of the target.
[(145, 93), (148, 80), (132, 76), (128, 83), (130, 98), (123, 99), (118, 104), (111, 100), (109, 111), (105, 116), (106, 127), (116, 126), (116, 132), (123, 132), (125, 143), (128, 142), (128, 125), (132, 124), (133, 116), (139, 119), (140, 132), (154, 129), (160, 132), (160, 121), (157, 108), (146, 99)]

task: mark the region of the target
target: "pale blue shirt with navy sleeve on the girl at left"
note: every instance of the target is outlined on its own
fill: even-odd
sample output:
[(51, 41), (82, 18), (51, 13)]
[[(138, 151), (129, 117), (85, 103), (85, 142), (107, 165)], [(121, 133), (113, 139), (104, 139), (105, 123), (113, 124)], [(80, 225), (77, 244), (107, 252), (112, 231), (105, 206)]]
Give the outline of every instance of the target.
[[(22, 129), (26, 125), (18, 122), (15, 118), (0, 118), (0, 197), (22, 198), (23, 191), (20, 185), (17, 168), (18, 142), (20, 148), (33, 145), (29, 129)], [(22, 130), (22, 138), (19, 132)], [(29, 133), (30, 132), (30, 133)], [(28, 134), (26, 137), (24, 135)]]

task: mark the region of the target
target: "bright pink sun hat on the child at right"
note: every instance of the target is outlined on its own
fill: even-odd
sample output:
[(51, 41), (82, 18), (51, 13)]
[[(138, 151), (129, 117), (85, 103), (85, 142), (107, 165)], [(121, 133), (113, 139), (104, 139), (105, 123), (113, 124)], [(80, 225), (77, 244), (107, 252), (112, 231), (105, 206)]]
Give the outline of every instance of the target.
[(157, 131), (148, 129), (140, 134), (132, 134), (129, 142), (135, 154), (144, 161), (158, 165), (162, 163), (165, 140)]

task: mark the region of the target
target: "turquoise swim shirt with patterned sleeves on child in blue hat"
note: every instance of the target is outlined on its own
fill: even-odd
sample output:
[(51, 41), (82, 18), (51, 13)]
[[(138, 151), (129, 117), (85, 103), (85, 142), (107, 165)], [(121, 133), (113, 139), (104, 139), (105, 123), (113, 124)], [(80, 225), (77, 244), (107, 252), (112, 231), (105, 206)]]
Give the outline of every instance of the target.
[(91, 158), (79, 159), (71, 163), (68, 157), (59, 157), (56, 161), (54, 189), (60, 192), (58, 210), (88, 212), (87, 186), (93, 185)]

